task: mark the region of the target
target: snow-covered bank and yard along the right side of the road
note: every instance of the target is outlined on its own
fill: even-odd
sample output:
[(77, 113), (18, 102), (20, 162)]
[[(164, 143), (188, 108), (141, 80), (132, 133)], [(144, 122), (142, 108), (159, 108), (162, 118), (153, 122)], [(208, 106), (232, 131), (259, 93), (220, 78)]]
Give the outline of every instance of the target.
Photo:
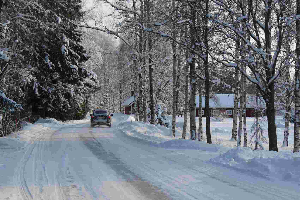
[[(114, 115), (115, 116), (115, 115)], [(300, 183), (300, 153), (292, 153), (289, 148), (281, 148), (279, 152), (268, 150), (253, 151), (250, 148), (236, 147), (236, 141), (231, 139), (232, 119), (226, 118), (223, 122), (217, 120), (211, 121), (212, 140), (221, 140), (220, 144), (207, 144), (205, 141), (205, 120), (203, 121), (203, 140), (190, 140), (190, 123), (187, 122), (186, 140), (180, 139), (182, 135), (183, 118), (176, 117), (176, 137), (172, 135), (172, 129), (165, 126), (154, 126), (143, 122), (134, 121), (133, 116), (117, 114), (117, 120), (120, 122), (118, 128), (126, 135), (147, 141), (150, 145), (160, 148), (187, 149), (211, 152), (209, 155), (216, 155), (210, 158), (208, 162), (222, 165), (242, 173), (252, 176), (264, 177), (267, 179), (279, 179), (294, 183)], [(133, 121), (131, 123), (131, 117)], [(251, 126), (252, 118), (249, 118)], [(282, 123), (277, 119), (278, 124)], [(196, 122), (198, 125), (198, 123)], [(284, 128), (284, 123), (283, 128)], [(280, 125), (279, 125), (280, 126)], [(249, 127), (248, 127), (249, 130)], [(281, 129), (280, 129), (281, 130)], [(281, 135), (280, 132), (277, 133)], [(266, 134), (266, 136), (268, 136)], [(229, 138), (229, 140), (228, 140)], [(277, 138), (281, 141), (281, 138)], [(292, 140), (292, 134), (290, 134)], [(292, 143), (292, 141), (290, 141)], [(264, 144), (267, 147), (267, 144)], [(266, 148), (268, 149), (268, 148)], [(219, 154), (219, 156), (217, 156)]]

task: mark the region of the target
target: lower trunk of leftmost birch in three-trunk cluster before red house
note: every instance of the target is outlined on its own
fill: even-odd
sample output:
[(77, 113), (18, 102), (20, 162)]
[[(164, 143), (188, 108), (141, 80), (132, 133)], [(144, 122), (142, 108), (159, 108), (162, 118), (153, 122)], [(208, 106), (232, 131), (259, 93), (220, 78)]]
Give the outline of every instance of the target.
[(234, 108), (233, 108), (233, 120), (232, 120), (232, 134), (231, 139), (234, 139), (236, 141), (236, 135), (238, 131), (238, 90), (239, 90), (239, 71), (238, 68), (235, 68), (235, 89), (234, 89)]

